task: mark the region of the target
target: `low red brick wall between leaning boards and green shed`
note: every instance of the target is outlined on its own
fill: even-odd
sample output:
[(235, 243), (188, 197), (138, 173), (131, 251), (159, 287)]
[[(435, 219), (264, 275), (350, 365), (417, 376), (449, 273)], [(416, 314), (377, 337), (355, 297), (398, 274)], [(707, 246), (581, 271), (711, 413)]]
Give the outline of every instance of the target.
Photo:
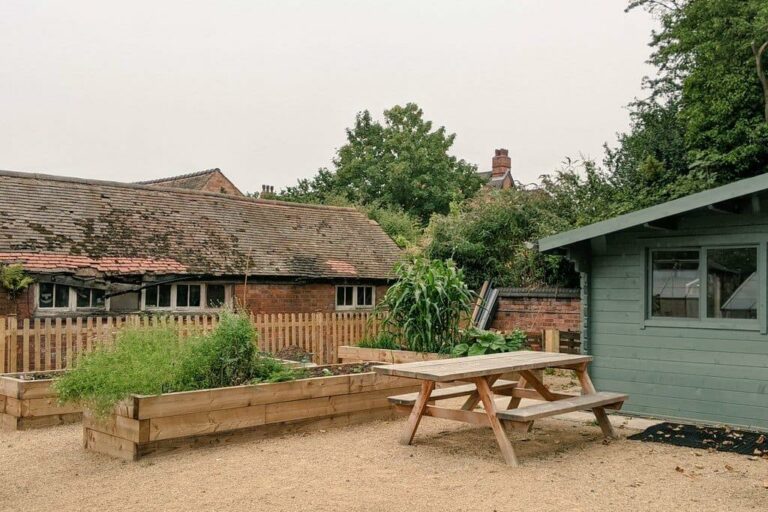
[(578, 290), (501, 290), (498, 309), (490, 327), (499, 331), (581, 330), (581, 301)]

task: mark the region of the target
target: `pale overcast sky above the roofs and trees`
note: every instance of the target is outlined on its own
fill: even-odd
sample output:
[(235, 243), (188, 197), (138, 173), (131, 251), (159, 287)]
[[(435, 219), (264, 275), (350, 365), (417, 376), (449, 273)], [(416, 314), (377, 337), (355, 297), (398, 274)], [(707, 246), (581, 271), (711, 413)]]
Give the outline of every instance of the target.
[(0, 2), (0, 169), (245, 191), (329, 166), (361, 110), (416, 102), (522, 183), (601, 159), (655, 21), (624, 0)]

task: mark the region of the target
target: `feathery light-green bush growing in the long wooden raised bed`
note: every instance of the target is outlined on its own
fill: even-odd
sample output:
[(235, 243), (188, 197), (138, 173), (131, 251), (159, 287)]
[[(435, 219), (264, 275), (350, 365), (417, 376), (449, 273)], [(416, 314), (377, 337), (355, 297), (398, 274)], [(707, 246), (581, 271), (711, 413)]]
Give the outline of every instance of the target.
[(78, 359), (56, 380), (61, 402), (78, 402), (99, 416), (132, 394), (156, 395), (277, 382), (299, 376), (257, 352), (256, 332), (246, 316), (224, 312), (208, 335), (184, 342), (171, 327), (122, 330), (114, 346), (101, 346)]

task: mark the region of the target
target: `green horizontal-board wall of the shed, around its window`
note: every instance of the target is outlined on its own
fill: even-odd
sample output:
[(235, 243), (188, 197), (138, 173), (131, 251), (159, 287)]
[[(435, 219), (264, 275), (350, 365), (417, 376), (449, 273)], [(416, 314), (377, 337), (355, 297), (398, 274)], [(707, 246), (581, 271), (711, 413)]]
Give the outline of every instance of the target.
[[(592, 241), (587, 338), (597, 388), (628, 393), (629, 413), (768, 429), (768, 335), (644, 320), (648, 248), (757, 242), (764, 254), (768, 215), (715, 212), (685, 216), (674, 231), (639, 229)], [(758, 261), (765, 286), (765, 256)]]

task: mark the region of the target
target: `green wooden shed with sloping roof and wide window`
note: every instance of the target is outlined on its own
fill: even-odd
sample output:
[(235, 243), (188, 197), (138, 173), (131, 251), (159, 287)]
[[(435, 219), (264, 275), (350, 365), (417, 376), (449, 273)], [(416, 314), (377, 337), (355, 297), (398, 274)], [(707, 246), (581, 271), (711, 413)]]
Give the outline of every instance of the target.
[(581, 273), (582, 350), (624, 411), (768, 430), (768, 174), (539, 241)]

